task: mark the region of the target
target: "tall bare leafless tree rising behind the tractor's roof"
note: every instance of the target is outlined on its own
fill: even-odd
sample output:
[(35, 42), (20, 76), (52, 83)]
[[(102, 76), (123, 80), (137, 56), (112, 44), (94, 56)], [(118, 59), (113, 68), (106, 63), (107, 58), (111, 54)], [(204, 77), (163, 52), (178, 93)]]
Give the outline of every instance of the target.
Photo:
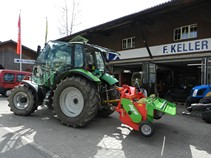
[[(71, 1), (71, 4), (68, 2)], [(77, 0), (64, 0), (64, 5), (61, 6), (61, 18), (59, 19), (60, 27), (59, 32), (61, 36), (71, 35), (79, 17), (79, 2)]]

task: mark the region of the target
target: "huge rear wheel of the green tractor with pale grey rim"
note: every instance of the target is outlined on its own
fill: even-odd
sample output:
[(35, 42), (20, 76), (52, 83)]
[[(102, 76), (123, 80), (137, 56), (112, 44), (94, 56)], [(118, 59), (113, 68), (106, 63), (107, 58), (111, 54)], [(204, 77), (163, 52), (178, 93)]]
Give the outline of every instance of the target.
[(97, 86), (82, 77), (66, 78), (54, 91), (55, 113), (66, 126), (85, 126), (97, 115), (99, 103)]

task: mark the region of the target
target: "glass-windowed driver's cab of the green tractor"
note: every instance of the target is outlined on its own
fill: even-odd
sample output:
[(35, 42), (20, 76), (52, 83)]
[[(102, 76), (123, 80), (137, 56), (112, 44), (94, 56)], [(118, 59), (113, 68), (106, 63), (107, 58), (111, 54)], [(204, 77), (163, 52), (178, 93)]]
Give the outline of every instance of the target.
[(33, 68), (33, 81), (50, 87), (54, 78), (72, 69), (83, 69), (100, 78), (105, 73), (102, 48), (82, 42), (50, 41), (39, 53)]

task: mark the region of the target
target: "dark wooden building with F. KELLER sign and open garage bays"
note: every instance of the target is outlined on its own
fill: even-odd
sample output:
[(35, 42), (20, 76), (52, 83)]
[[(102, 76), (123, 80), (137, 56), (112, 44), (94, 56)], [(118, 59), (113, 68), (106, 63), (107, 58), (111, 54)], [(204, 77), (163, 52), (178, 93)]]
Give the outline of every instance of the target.
[(210, 10), (209, 0), (172, 0), (61, 40), (81, 35), (114, 49), (120, 60), (110, 64), (120, 85), (131, 84), (132, 74), (142, 71), (149, 93), (164, 97), (171, 90), (179, 98), (210, 82)]

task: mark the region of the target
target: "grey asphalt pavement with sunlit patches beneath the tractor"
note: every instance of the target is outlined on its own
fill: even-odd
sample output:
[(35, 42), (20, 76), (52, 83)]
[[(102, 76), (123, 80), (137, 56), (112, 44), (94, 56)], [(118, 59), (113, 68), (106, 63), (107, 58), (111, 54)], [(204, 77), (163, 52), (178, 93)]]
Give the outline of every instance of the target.
[(182, 115), (184, 105), (155, 120), (152, 137), (122, 124), (116, 112), (75, 129), (46, 107), (21, 117), (7, 105), (0, 96), (0, 158), (211, 158), (211, 124), (200, 114)]

